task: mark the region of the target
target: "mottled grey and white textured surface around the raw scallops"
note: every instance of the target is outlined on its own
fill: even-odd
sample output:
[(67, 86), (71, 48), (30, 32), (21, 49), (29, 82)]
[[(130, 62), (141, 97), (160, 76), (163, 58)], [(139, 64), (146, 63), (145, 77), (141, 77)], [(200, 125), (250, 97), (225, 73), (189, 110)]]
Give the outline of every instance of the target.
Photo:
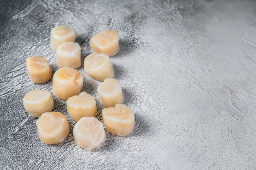
[[(53, 95), (70, 134), (59, 145), (40, 142), (22, 98), (52, 93), (52, 80), (31, 83), (26, 58), (45, 56), (56, 72), (49, 38), (58, 25), (76, 30), (82, 62), (93, 35), (119, 32), (111, 61), (135, 112), (130, 136), (107, 133), (100, 150), (78, 148), (75, 122)], [(255, 0), (5, 0), (0, 59), (0, 169), (256, 169)], [(103, 123), (99, 82), (79, 71)]]

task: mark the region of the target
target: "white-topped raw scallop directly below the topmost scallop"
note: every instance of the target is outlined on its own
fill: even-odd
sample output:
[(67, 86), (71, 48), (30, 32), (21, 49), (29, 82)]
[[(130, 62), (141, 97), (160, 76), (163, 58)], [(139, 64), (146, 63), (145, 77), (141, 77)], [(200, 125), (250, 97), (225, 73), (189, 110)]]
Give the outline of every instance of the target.
[(56, 49), (56, 62), (59, 68), (78, 69), (81, 66), (81, 47), (76, 42), (64, 42)]

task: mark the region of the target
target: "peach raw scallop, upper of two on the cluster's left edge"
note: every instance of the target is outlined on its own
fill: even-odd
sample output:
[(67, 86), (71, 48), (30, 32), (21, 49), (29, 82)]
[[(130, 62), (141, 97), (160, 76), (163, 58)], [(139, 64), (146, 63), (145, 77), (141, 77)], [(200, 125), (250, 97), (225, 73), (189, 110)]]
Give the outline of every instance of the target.
[(45, 57), (28, 57), (27, 73), (33, 83), (46, 83), (52, 77), (52, 68), (49, 66)]

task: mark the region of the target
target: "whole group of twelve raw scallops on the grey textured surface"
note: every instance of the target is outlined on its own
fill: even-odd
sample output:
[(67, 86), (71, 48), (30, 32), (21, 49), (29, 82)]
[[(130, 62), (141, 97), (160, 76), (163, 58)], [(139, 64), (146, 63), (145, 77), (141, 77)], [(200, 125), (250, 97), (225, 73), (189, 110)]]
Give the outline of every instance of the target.
[[(97, 115), (93, 96), (81, 92), (83, 76), (76, 70), (81, 66), (81, 47), (74, 42), (76, 31), (67, 25), (54, 27), (51, 31), (50, 45), (56, 51), (59, 69), (52, 78), (53, 94), (65, 100), (67, 112), (77, 123), (73, 128), (76, 144), (86, 150), (98, 150), (105, 143), (106, 133)], [(135, 116), (130, 107), (123, 105), (124, 95), (121, 85), (113, 78), (115, 75), (111, 56), (119, 51), (117, 31), (103, 31), (90, 39), (90, 46), (96, 52), (84, 60), (85, 72), (92, 78), (103, 81), (97, 87), (107, 132), (117, 136), (127, 136), (135, 126)], [(33, 83), (46, 83), (52, 77), (52, 69), (45, 57), (27, 58), (27, 72)], [(80, 93), (81, 92), (81, 93)], [(36, 121), (38, 136), (43, 143), (59, 144), (69, 134), (69, 124), (64, 114), (51, 112), (54, 106), (52, 94), (46, 90), (35, 89), (23, 98), (25, 109)]]

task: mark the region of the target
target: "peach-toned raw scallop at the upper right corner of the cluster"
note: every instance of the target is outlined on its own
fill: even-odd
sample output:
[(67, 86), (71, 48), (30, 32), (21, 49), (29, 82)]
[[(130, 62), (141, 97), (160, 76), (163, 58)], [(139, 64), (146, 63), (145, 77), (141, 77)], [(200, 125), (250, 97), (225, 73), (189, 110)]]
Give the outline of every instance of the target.
[(90, 46), (97, 53), (103, 53), (112, 57), (120, 49), (119, 35), (114, 30), (103, 31), (90, 39)]

